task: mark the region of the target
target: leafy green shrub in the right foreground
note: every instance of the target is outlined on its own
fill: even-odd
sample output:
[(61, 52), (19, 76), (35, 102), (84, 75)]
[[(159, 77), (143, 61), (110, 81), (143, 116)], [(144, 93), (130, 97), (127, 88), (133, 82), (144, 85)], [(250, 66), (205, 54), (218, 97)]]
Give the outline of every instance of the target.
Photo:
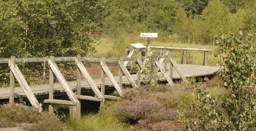
[(256, 61), (252, 47), (253, 33), (248, 36), (225, 36), (217, 40), (221, 69), (218, 76), (226, 92), (219, 96), (221, 109), (217, 108), (215, 96), (201, 88), (195, 88), (197, 106), (193, 105), (195, 120), (187, 119), (187, 130), (256, 130), (255, 85)]

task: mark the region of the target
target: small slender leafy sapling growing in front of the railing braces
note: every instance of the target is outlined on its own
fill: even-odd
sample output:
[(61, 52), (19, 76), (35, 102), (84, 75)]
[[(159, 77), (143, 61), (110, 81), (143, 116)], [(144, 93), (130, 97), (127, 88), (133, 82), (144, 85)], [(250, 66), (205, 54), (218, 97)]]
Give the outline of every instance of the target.
[(146, 85), (149, 91), (153, 91), (157, 86), (159, 75), (157, 74), (158, 68), (155, 61), (158, 60), (157, 55), (151, 55), (150, 59), (145, 61), (142, 82)]

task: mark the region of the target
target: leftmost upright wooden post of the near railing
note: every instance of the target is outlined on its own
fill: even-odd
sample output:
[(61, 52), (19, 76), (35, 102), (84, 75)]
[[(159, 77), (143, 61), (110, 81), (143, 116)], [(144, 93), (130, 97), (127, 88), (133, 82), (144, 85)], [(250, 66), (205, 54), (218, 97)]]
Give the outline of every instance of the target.
[[(11, 56), (11, 62), (15, 65), (15, 56)], [(10, 94), (9, 94), (9, 104), (14, 104), (14, 87), (15, 87), (15, 79), (14, 74), (10, 70)]]

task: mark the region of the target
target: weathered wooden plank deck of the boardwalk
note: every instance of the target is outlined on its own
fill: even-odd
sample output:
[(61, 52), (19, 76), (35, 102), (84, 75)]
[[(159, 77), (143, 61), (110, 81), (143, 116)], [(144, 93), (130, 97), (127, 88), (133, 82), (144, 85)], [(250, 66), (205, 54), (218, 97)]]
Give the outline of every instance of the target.
[[(180, 67), (182, 73), (186, 78), (189, 77), (197, 77), (197, 76), (211, 76), (214, 75), (215, 72), (218, 71), (219, 67), (209, 67), (209, 66), (202, 66), (202, 65), (188, 65), (188, 64), (178, 64)], [(170, 64), (167, 64), (168, 70), (170, 67)], [(158, 72), (161, 74), (161, 72)], [(169, 74), (169, 71), (167, 71)], [(114, 77), (116, 82), (118, 82), (118, 76)], [(132, 75), (132, 78), (134, 80), (137, 80), (137, 75)], [(178, 75), (177, 71), (173, 69), (173, 79), (181, 79)], [(93, 79), (98, 88), (100, 88), (101, 85), (101, 78)], [(73, 91), (76, 90), (76, 81), (68, 82), (69, 86)], [(105, 87), (106, 90), (113, 89), (113, 84), (110, 82), (108, 78), (105, 79)], [(123, 85), (130, 85), (128, 82), (128, 79), (126, 76), (123, 76)], [(49, 94), (49, 84), (43, 84), (43, 85), (32, 85), (30, 86), (31, 90), (33, 91), (36, 98), (48, 98)], [(81, 80), (81, 92), (92, 92), (91, 87), (87, 83), (85, 79)], [(60, 85), (60, 83), (54, 83), (54, 96), (61, 96), (66, 95), (63, 87)], [(26, 97), (25, 93), (23, 92), (21, 87), (15, 87), (15, 98), (20, 98), (22, 96), (23, 98)], [(0, 88), (0, 99), (9, 99), (9, 88), (1, 87)]]

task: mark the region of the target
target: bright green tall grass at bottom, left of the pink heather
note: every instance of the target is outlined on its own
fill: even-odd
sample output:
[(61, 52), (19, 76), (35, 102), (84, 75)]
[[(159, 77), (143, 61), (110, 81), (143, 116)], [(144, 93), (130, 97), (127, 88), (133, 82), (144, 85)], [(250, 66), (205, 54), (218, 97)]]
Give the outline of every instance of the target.
[(118, 122), (114, 115), (116, 102), (108, 102), (98, 114), (83, 115), (80, 120), (67, 121), (70, 131), (130, 131), (127, 124)]

